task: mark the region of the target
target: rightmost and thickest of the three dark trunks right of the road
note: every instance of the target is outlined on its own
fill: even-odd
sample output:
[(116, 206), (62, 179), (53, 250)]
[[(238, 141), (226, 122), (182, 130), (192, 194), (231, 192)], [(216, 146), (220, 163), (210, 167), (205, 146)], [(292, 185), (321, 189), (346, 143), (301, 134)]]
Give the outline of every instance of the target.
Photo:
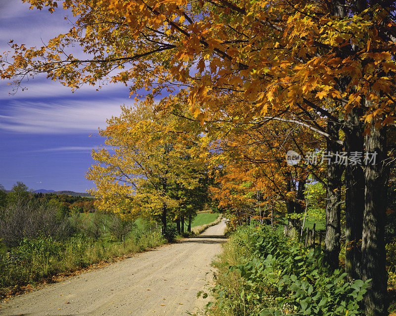
[(376, 153), (375, 165), (368, 162), (365, 168), (365, 207), (362, 234), (362, 279), (372, 279), (364, 297), (366, 316), (388, 315), (387, 283), (385, 268), (385, 211), (387, 200), (387, 177), (385, 164), (386, 131), (372, 128), (365, 137), (365, 147)]

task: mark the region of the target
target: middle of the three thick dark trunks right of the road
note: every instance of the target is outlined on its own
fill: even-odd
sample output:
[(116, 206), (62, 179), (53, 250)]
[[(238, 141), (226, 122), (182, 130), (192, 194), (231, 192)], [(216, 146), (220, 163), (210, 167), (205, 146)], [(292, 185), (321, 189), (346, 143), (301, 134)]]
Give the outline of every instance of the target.
[[(348, 113), (345, 128), (345, 150), (363, 152), (363, 127), (360, 123), (361, 109)], [(345, 170), (346, 182), (346, 256), (345, 266), (348, 279), (360, 279), (361, 252), (359, 240), (362, 238), (364, 212), (364, 172), (361, 165), (348, 164)]]

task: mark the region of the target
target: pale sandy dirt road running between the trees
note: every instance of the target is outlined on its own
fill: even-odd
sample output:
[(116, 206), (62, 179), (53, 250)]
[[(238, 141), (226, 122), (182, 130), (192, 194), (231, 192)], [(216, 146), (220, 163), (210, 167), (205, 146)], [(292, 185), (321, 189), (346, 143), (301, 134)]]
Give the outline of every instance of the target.
[(0, 315), (187, 315), (206, 304), (197, 293), (211, 281), (224, 228), (222, 221), (199, 237), (17, 296), (0, 304)]

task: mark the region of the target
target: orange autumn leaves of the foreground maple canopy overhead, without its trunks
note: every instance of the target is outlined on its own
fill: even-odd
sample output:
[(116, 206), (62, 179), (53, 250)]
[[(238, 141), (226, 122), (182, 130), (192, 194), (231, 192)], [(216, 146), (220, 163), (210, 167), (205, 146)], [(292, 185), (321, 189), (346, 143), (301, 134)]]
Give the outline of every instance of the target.
[[(28, 2), (57, 8), (53, 1)], [(274, 160), (285, 149), (297, 150), (294, 140), (303, 144), (300, 151), (320, 145), (310, 142), (313, 136), (286, 132), (287, 145), (267, 145), (265, 137), (254, 142), (261, 134), (253, 127), (275, 117), (323, 132), (326, 112), (335, 110), (343, 119), (354, 107), (364, 108), (367, 127), (394, 121), (394, 24), (381, 6), (345, 18), (323, 1), (66, 0), (63, 7), (73, 12), (75, 26), (40, 48), (12, 44), (0, 58), (1, 78), (18, 85), (25, 76), (45, 73), (72, 89), (109, 80), (131, 93), (147, 89), (148, 98), (162, 98), (159, 111), (187, 104), (205, 146), (218, 139), (238, 143), (221, 155), (231, 157), (225, 158), (230, 166), (241, 165), (240, 181), (266, 179), (260, 189), (271, 188), (275, 196), (284, 194), (285, 176)], [(75, 44), (84, 58), (67, 53)], [(263, 147), (270, 149), (255, 152)], [(277, 172), (265, 167), (271, 163)], [(255, 168), (262, 176), (243, 171)]]

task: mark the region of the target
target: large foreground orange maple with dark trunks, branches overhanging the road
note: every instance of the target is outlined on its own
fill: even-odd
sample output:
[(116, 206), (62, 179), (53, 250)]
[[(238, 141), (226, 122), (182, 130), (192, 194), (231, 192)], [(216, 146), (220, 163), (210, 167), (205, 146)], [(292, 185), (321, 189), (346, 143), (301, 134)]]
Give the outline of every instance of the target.
[[(53, 0), (28, 2), (49, 11), (57, 7)], [(373, 278), (366, 314), (386, 314), (384, 194), (386, 130), (395, 118), (394, 2), (65, 0), (63, 6), (76, 18), (70, 32), (40, 48), (12, 44), (13, 52), (1, 58), (1, 78), (16, 80), (18, 87), (21, 79), (43, 73), (72, 89), (108, 79), (131, 92), (179, 93), (207, 127), (212, 113), (225, 122), (224, 131), (237, 123), (277, 120), (326, 137), (331, 152), (339, 145), (377, 151), (376, 165), (345, 170), (347, 272)], [(72, 45), (87, 57), (67, 53)], [(173, 107), (172, 98), (167, 100), (161, 106)], [(343, 170), (333, 167), (327, 173), (327, 198), (335, 203), (326, 207), (326, 251), (337, 266), (336, 192)]]

